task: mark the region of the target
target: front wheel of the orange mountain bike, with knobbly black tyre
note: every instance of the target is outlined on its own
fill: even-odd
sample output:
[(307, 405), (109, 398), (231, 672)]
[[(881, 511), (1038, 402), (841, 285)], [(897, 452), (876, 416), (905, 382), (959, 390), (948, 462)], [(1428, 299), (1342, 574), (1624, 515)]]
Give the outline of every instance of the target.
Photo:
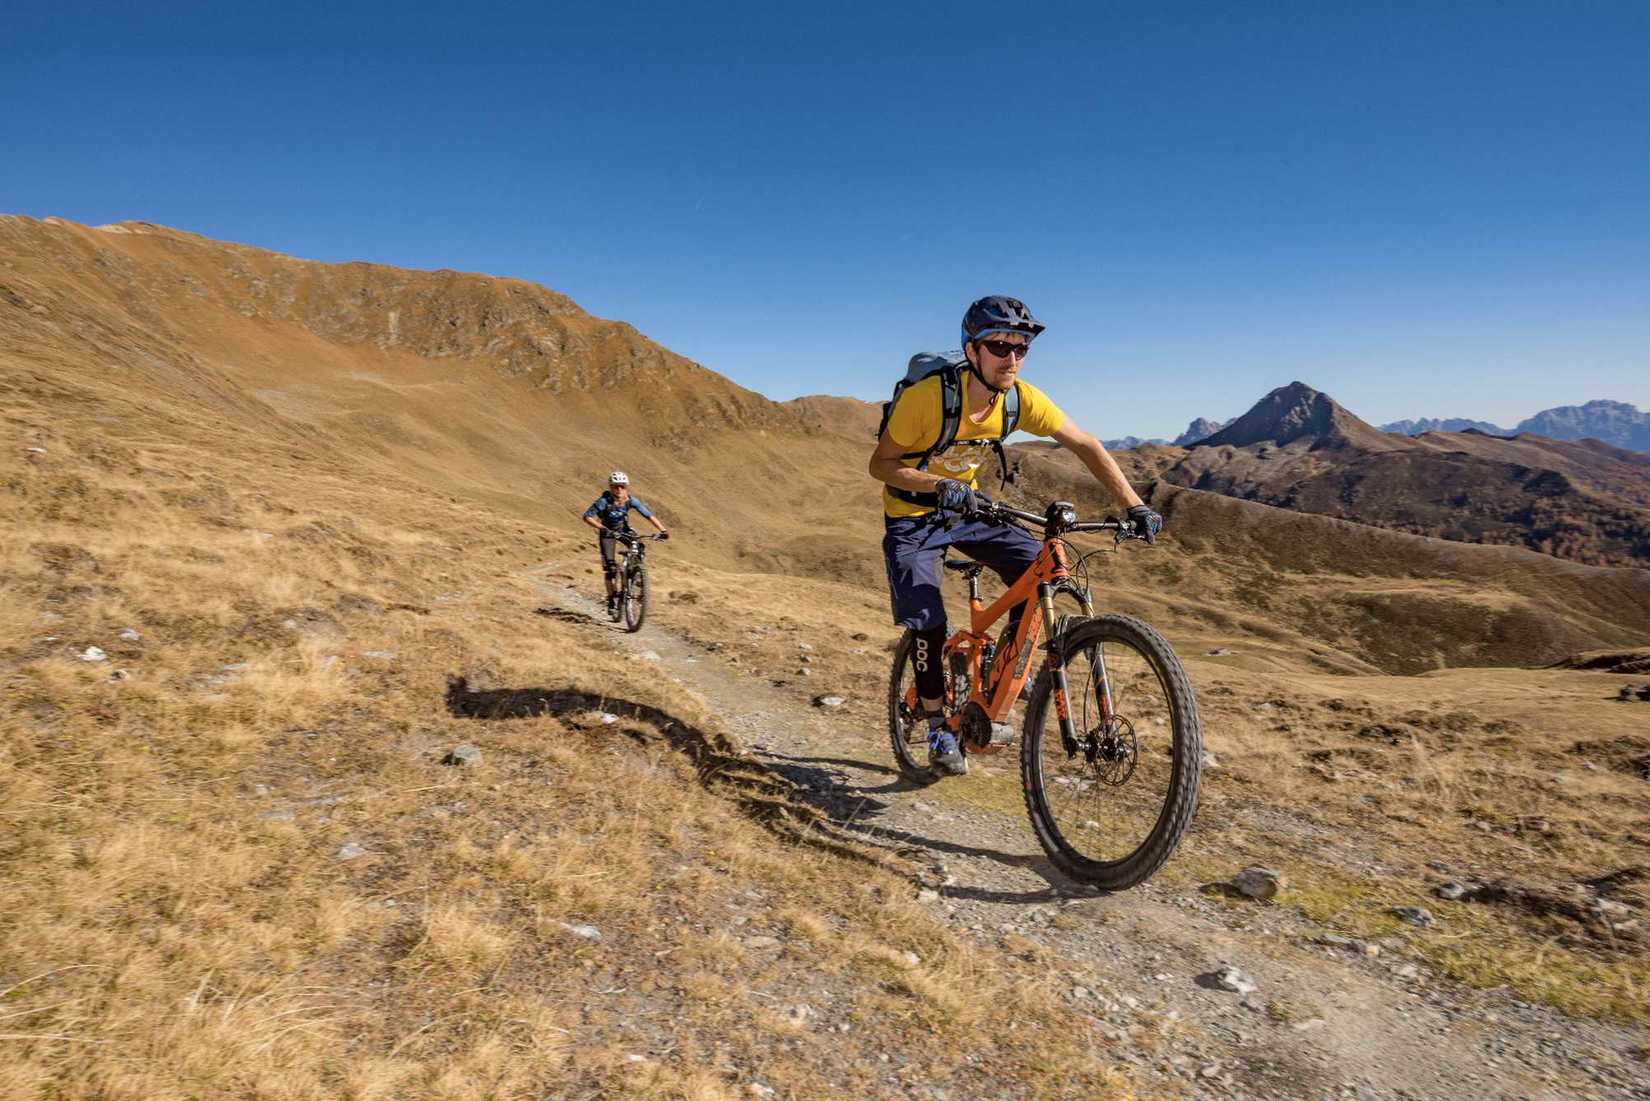
[(1203, 731), (1191, 682), (1168, 642), (1130, 616), (1077, 621), (1056, 649), (1074, 740), (1063, 738), (1046, 665), (1020, 744), (1031, 829), (1074, 880), (1137, 886), (1175, 852), (1198, 806)]

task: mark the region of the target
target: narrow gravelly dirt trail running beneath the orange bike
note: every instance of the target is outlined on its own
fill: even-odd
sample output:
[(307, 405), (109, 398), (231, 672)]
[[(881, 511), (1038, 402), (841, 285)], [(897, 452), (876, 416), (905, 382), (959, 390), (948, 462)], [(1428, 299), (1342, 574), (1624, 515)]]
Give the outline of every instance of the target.
[[(879, 723), (810, 706), (795, 687), (733, 669), (668, 624), (625, 634), (564, 583), (543, 591), (601, 644), (657, 662), (705, 697), (754, 758), (845, 829), (927, 863), (931, 877), (912, 891), (949, 921), (982, 941), (1026, 938), (1069, 961), (1051, 984), (1110, 1023), (1119, 1061), (1147, 1076), (1211, 1098), (1457, 1101), (1470, 1089), (1483, 1101), (1650, 1099), (1643, 1030), (1462, 987), (1401, 944), (1376, 957), (1317, 944), (1328, 929), (1280, 908), (1234, 910), (1150, 883), (1096, 895), (1048, 863), (1023, 815), (960, 812), (904, 782)], [(1015, 761), (1005, 754), (987, 768)], [(1259, 989), (1204, 985), (1223, 962)]]

